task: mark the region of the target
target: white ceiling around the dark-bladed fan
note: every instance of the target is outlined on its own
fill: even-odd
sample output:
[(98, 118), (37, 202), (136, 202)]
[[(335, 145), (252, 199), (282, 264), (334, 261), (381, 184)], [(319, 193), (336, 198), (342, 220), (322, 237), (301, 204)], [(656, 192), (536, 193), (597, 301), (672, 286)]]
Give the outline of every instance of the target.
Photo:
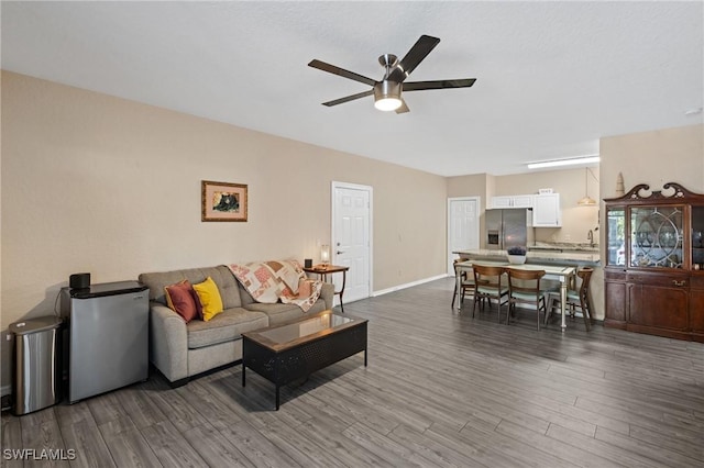
[[(702, 123), (704, 3), (9, 2), (2, 68), (442, 176), (526, 172), (598, 138)], [(410, 112), (310, 68), (373, 79), (421, 34), (440, 44)]]

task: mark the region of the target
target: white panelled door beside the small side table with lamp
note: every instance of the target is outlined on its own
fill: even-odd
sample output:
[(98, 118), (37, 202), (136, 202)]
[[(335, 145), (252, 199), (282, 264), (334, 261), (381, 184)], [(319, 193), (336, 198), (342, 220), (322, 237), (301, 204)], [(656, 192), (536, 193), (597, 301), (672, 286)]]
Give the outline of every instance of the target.
[[(372, 289), (372, 188), (332, 182), (332, 263), (350, 267), (343, 301), (370, 297)], [(342, 275), (331, 275), (336, 291)], [(337, 298), (337, 297), (336, 297)]]

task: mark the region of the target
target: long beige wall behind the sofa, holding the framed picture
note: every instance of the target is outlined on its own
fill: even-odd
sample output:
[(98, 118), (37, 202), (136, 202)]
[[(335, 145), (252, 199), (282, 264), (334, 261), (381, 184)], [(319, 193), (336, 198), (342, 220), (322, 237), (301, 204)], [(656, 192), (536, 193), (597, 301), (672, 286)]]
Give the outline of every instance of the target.
[[(1, 130), (3, 332), (73, 272), (318, 260), (331, 181), (373, 187), (373, 290), (446, 272), (443, 177), (11, 73)], [(249, 222), (202, 223), (201, 180), (248, 183)]]

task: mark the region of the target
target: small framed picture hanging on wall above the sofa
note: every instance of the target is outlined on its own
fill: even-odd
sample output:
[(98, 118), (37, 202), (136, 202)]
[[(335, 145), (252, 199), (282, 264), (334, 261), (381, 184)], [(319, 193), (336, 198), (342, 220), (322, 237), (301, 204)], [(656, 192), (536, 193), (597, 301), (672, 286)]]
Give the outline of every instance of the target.
[(204, 180), (200, 186), (200, 221), (246, 222), (248, 186)]

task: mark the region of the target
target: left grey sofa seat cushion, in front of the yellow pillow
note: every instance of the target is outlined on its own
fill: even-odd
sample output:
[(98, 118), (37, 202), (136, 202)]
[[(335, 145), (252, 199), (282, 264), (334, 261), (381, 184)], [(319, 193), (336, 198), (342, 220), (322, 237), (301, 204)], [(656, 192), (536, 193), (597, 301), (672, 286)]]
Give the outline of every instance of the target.
[[(299, 309), (300, 310), (300, 309)], [(188, 322), (188, 348), (197, 349), (218, 343), (240, 339), (242, 333), (268, 326), (268, 316), (242, 308), (226, 309), (212, 320)]]

